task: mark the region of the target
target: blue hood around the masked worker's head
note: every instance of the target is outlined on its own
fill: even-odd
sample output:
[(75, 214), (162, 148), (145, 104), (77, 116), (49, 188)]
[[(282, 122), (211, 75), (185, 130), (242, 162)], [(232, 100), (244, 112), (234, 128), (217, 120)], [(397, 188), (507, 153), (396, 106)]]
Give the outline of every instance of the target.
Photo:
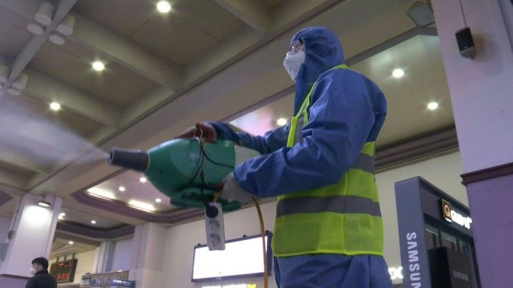
[(292, 42), (303, 39), (305, 43), (305, 63), (301, 65), (296, 78), (296, 98), (294, 115), (298, 113), (303, 100), (319, 76), (332, 67), (344, 64), (344, 51), (339, 38), (326, 27), (308, 27), (296, 33)]

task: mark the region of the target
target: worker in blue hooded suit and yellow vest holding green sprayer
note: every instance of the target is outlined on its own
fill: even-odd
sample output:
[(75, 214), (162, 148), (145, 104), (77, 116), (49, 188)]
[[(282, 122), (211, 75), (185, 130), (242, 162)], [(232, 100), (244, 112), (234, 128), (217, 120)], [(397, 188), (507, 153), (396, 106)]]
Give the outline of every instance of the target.
[(389, 288), (374, 179), (376, 138), (386, 114), (381, 90), (347, 69), (335, 33), (293, 36), (284, 66), (296, 81), (289, 124), (251, 136), (220, 122), (179, 137), (227, 139), (261, 156), (237, 166), (222, 198), (277, 197), (273, 252), (282, 288)]

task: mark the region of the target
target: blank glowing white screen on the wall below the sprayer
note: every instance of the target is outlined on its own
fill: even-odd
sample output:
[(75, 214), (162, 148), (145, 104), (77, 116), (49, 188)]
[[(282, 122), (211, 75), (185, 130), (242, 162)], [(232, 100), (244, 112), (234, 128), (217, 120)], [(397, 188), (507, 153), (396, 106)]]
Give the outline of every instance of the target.
[[(273, 233), (266, 232), (267, 266), (270, 274), (273, 251), (270, 240)], [(261, 235), (226, 241), (224, 250), (210, 251), (206, 245), (194, 247), (192, 282), (250, 278), (263, 275)]]

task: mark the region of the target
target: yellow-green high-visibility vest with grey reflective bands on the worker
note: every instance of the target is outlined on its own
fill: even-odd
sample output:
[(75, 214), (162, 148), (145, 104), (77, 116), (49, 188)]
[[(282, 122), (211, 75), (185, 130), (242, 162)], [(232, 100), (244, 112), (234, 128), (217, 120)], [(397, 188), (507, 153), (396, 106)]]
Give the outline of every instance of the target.
[[(346, 65), (334, 67), (347, 68)], [(310, 89), (291, 120), (287, 146), (303, 140)], [(278, 197), (272, 245), (277, 257), (310, 253), (383, 255), (383, 223), (374, 179), (375, 143), (332, 185)]]

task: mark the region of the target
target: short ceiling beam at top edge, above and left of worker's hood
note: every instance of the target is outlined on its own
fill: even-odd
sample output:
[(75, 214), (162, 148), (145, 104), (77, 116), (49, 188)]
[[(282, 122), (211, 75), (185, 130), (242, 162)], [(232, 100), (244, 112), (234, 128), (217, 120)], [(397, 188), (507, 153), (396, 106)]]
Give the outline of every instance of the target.
[(267, 33), (271, 26), (271, 16), (266, 3), (260, 0), (214, 0), (222, 8), (251, 26), (259, 33)]

